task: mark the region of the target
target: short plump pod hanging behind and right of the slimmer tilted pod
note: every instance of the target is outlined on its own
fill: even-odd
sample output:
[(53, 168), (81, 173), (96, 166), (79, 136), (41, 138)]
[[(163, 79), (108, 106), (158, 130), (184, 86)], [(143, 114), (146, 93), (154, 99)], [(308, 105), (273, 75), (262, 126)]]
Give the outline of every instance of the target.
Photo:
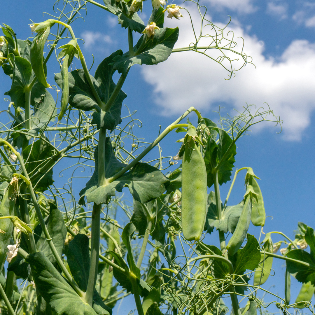
[(266, 212), (264, 199), (262, 198), (260, 187), (254, 176), (250, 176), (249, 185), (251, 185), (256, 193), (252, 198), (252, 216), (251, 221), (255, 226), (264, 226), (266, 220)]

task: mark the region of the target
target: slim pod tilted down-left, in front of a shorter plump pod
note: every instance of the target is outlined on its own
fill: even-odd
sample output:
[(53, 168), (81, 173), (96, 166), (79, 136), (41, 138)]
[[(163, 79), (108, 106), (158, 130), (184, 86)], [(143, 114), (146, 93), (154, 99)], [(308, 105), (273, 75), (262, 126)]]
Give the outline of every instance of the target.
[(226, 249), (229, 251), (230, 255), (234, 255), (241, 247), (249, 228), (250, 217), (252, 214), (252, 205), (250, 195), (246, 195), (245, 198), (243, 210), (238, 219), (235, 231), (230, 238), (229, 243), (226, 245)]

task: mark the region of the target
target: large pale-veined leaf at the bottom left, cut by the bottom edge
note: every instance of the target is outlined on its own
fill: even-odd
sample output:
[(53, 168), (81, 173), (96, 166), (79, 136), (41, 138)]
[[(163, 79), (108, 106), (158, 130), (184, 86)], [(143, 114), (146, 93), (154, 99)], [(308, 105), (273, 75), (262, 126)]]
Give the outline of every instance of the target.
[(43, 252), (29, 254), (25, 261), (31, 265), (38, 292), (54, 312), (64, 315), (96, 315), (93, 308), (80, 299)]

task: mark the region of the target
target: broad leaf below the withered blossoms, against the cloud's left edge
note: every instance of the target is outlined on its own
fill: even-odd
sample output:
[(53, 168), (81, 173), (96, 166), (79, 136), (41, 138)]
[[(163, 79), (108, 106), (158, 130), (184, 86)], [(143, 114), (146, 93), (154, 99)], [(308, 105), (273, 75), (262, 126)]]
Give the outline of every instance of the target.
[[(126, 75), (127, 70), (135, 64), (156, 65), (159, 62), (165, 61), (172, 53), (172, 49), (178, 38), (178, 33), (178, 27), (165, 27), (161, 28), (161, 30), (156, 30), (153, 42), (151, 40), (147, 41), (138, 55), (129, 56), (129, 52), (127, 52), (122, 56), (116, 56), (113, 59), (114, 69)], [(141, 36), (134, 47), (135, 51), (144, 40), (146, 40), (146, 36)]]

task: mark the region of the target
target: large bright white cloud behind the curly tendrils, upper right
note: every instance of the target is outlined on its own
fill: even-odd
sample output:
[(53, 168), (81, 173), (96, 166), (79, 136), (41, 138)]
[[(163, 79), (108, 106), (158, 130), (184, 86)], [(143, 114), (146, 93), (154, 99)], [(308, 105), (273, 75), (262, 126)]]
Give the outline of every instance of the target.
[[(175, 22), (180, 24), (177, 48), (187, 46), (193, 39), (187, 22), (187, 14)], [(275, 61), (262, 54), (264, 45), (256, 37), (244, 34), (239, 26), (232, 30), (235, 38), (244, 38), (244, 52), (253, 57), (256, 69), (248, 64), (229, 81), (224, 80), (226, 71), (220, 65), (195, 52), (174, 53), (157, 66), (142, 67), (146, 82), (154, 87), (154, 101), (162, 108), (161, 113), (178, 114), (190, 106), (201, 112), (216, 110), (215, 102), (238, 109), (245, 102), (257, 106), (267, 102), (284, 120), (283, 136), (300, 140), (315, 109), (315, 44), (294, 40)]]

